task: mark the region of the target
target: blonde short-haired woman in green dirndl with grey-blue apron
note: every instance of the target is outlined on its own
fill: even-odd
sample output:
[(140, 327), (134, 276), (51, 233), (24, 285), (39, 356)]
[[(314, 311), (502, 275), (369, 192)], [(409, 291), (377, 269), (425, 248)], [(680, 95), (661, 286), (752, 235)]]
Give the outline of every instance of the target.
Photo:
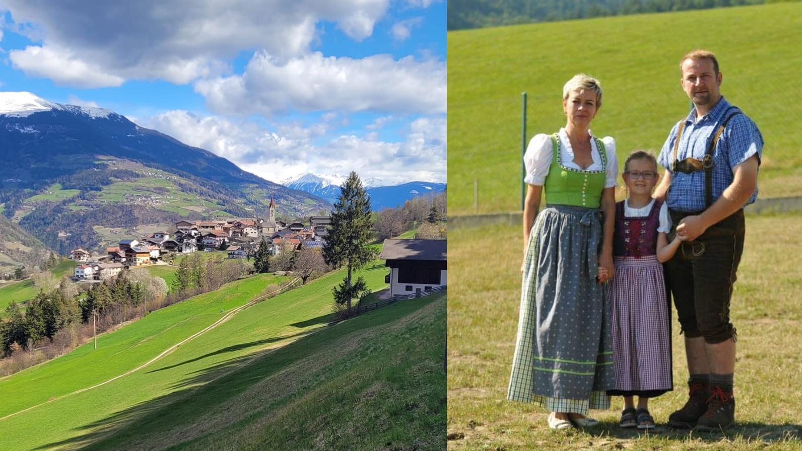
[(507, 395), (548, 409), (552, 429), (596, 425), (589, 409), (609, 409), (615, 384), (602, 285), (614, 276), (615, 141), (590, 132), (602, 106), (597, 79), (570, 79), (562, 106), (565, 128), (535, 135), (524, 156), (525, 256)]

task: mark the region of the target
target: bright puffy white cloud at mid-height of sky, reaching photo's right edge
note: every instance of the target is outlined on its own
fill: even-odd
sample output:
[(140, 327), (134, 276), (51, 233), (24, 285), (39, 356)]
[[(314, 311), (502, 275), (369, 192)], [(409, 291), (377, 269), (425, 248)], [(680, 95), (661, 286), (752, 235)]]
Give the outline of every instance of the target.
[(195, 90), (211, 110), (229, 115), (273, 115), (290, 107), (444, 113), (446, 64), (411, 56), (395, 61), (387, 54), (354, 59), (320, 52), (281, 62), (257, 52), (244, 74), (201, 80)]

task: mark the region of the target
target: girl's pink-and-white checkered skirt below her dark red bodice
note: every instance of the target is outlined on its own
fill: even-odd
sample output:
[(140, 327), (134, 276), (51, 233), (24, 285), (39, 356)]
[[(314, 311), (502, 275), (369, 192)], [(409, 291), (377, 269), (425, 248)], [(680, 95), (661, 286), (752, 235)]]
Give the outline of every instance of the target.
[(662, 264), (656, 256), (615, 257), (614, 263), (607, 296), (615, 390), (670, 390), (670, 316)]

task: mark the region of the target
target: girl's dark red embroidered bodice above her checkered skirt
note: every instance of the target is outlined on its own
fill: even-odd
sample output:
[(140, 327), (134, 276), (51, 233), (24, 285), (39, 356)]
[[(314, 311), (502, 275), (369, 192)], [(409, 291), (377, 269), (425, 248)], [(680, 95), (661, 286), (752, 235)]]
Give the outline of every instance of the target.
[(627, 218), (624, 216), (624, 201), (615, 204), (614, 256), (640, 258), (657, 253), (661, 206), (662, 202), (655, 200), (649, 215)]

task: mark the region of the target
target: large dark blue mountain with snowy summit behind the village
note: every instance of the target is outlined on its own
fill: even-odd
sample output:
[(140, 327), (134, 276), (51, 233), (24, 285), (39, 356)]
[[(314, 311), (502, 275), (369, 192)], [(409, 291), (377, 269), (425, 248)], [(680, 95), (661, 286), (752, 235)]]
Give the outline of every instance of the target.
[(303, 217), (330, 203), (103, 108), (0, 92), (0, 211), (48, 247), (99, 248), (119, 234), (208, 216)]

